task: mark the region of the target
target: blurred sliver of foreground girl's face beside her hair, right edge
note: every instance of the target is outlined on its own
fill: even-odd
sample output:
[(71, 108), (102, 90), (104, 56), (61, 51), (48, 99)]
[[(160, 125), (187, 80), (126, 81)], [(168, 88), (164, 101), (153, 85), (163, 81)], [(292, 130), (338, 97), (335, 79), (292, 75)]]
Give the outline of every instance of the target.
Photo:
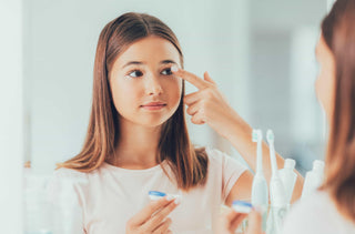
[(315, 90), (328, 121), (331, 121), (335, 101), (335, 60), (331, 49), (321, 37), (316, 47), (316, 59), (320, 72), (315, 83)]

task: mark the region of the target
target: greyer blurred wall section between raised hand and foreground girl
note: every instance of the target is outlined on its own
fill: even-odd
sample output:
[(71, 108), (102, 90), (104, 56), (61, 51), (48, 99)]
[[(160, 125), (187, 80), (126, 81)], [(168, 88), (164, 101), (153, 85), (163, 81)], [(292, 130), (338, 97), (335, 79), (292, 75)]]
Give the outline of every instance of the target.
[(277, 152), (296, 159), (301, 172), (323, 156), (325, 144), (314, 92), (325, 14), (326, 0), (251, 1), (250, 123), (273, 129)]

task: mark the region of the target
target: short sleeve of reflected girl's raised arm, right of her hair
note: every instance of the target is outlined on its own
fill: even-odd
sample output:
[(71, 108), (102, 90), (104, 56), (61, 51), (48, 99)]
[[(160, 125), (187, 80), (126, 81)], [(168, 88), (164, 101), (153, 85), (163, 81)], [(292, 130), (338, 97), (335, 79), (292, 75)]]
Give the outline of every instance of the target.
[(230, 194), (232, 187), (240, 179), (240, 176), (247, 170), (245, 165), (240, 163), (236, 159), (215, 150), (206, 149), (210, 161), (215, 163), (216, 170), (222, 173), (222, 201), (224, 202)]

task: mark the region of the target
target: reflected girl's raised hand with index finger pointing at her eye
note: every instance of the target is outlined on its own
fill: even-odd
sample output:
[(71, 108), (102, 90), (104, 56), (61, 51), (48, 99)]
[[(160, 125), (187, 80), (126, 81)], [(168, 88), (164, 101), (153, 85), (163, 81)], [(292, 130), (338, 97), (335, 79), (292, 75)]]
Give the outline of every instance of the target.
[(199, 89), (199, 91), (184, 96), (184, 103), (189, 106), (186, 112), (192, 116), (191, 122), (194, 124), (207, 123), (222, 136), (227, 138), (230, 126), (239, 115), (230, 106), (210, 74), (205, 72), (204, 79), (201, 79), (176, 67), (172, 71)]

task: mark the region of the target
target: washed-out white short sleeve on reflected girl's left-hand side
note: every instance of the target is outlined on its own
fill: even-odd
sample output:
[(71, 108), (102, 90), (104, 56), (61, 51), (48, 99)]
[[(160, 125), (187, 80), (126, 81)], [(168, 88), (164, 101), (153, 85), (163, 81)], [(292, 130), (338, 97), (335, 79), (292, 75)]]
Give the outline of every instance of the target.
[[(57, 221), (55, 231), (85, 234), (81, 187), (88, 183), (84, 173), (73, 170), (57, 170), (47, 185), (48, 202)], [(60, 233), (61, 233), (60, 232)]]

